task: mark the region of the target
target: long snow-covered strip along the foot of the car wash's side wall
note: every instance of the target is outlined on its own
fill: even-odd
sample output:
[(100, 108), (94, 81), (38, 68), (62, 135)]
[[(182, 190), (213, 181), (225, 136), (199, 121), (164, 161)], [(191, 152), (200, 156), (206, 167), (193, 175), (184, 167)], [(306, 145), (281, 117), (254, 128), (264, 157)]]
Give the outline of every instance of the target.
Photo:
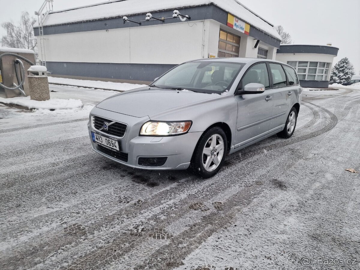
[(78, 87), (90, 87), (97, 89), (109, 89), (115, 91), (127, 91), (135, 88), (145, 87), (143, 84), (127, 84), (121, 82), (103, 82), (103, 81), (90, 81), (90, 80), (75, 80), (68, 78), (55, 78), (49, 77), (50, 84), (72, 85)]

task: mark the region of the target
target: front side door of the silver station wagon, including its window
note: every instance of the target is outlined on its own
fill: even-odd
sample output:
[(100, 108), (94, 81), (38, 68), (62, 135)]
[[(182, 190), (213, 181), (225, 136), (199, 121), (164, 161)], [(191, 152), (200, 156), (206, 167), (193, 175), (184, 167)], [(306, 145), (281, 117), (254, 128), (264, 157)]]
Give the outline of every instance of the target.
[[(257, 63), (246, 71), (240, 81), (239, 89), (243, 89), (249, 83), (263, 84), (269, 89), (269, 73), (265, 62)], [(258, 94), (235, 95), (235, 99), (238, 103), (235, 133), (235, 148), (237, 148), (266, 134), (269, 130), (274, 101), (266, 90)]]

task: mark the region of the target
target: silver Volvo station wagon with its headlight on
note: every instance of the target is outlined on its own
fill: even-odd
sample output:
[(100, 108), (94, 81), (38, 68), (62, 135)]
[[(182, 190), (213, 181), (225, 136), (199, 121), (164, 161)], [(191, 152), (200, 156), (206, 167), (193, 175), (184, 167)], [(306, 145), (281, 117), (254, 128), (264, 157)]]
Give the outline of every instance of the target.
[(225, 157), (277, 134), (290, 138), (302, 88), (287, 64), (211, 58), (180, 64), (148, 87), (107, 98), (88, 124), (95, 152), (149, 170), (215, 175)]

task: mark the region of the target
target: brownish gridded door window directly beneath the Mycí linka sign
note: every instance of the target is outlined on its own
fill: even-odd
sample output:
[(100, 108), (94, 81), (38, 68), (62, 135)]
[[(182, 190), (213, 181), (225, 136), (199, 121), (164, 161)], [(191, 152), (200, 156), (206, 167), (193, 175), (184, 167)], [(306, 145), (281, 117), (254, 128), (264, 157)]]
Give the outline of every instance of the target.
[(239, 57), (240, 37), (220, 30), (219, 57)]

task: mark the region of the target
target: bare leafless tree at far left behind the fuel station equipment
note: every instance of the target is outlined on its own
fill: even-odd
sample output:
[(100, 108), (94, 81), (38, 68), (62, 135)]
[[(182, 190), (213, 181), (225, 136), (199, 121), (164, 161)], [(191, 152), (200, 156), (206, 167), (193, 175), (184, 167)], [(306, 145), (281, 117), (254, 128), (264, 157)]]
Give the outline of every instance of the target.
[(37, 56), (37, 40), (33, 31), (34, 24), (35, 18), (30, 18), (28, 12), (22, 13), (18, 26), (15, 26), (13, 22), (2, 23), (1, 26), (6, 30), (6, 36), (1, 38), (1, 44), (10, 48), (35, 50)]

